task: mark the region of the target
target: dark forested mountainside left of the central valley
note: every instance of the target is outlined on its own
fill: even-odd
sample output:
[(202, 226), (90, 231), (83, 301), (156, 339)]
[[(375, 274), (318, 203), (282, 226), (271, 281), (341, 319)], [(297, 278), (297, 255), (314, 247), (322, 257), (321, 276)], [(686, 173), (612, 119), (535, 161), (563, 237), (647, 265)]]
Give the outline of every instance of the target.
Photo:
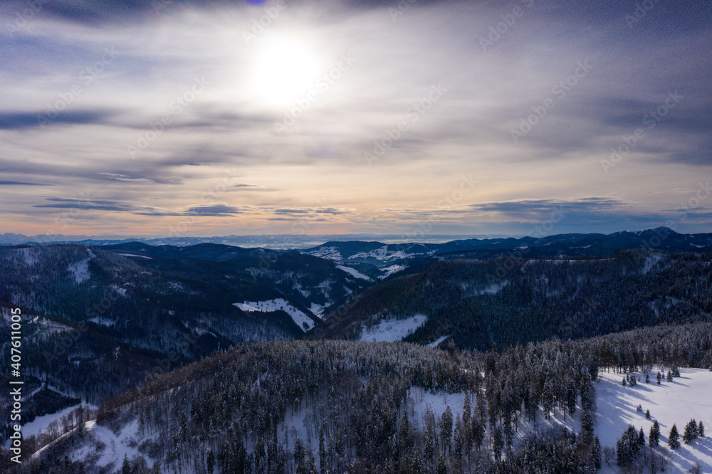
[(9, 354), (9, 309), (20, 307), (23, 344), (32, 348), (23, 359), (28, 383), (45, 383), (53, 397), (98, 404), (150, 371), (215, 349), (300, 337), (324, 307), (370, 284), (293, 251), (2, 247), (0, 357)]

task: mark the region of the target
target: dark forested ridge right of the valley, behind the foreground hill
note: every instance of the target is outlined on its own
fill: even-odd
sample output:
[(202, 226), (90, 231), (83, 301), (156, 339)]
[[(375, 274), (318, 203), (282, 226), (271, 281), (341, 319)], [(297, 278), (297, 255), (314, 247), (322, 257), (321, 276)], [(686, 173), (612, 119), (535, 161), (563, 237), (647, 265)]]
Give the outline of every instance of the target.
[(597, 258), (451, 259), (392, 278), (334, 308), (309, 337), (358, 339), (383, 318), (427, 320), (406, 339), (486, 350), (705, 319), (712, 254), (621, 251)]

